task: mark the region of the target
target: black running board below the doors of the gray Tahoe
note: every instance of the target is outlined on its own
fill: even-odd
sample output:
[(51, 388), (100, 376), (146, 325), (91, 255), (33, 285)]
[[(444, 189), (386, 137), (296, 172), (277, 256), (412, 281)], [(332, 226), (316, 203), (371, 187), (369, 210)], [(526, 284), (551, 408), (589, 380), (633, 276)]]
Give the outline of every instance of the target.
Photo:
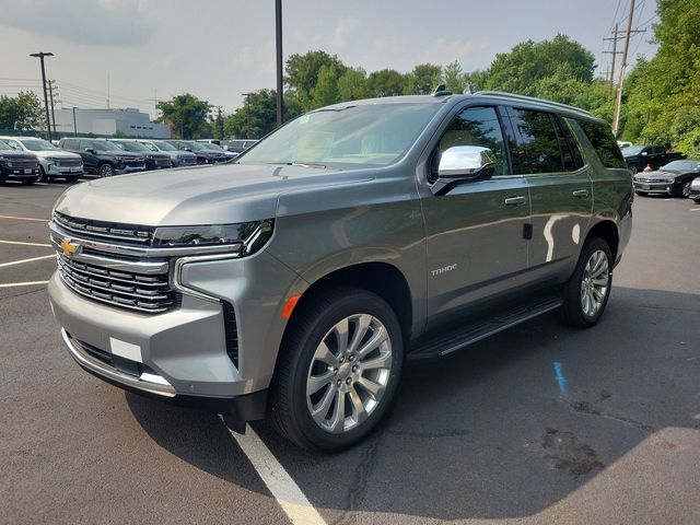
[(561, 306), (561, 303), (562, 301), (559, 296), (546, 298), (480, 318), (459, 327), (457, 330), (430, 339), (408, 353), (407, 359), (430, 359), (446, 355), (493, 334), (556, 310)]

